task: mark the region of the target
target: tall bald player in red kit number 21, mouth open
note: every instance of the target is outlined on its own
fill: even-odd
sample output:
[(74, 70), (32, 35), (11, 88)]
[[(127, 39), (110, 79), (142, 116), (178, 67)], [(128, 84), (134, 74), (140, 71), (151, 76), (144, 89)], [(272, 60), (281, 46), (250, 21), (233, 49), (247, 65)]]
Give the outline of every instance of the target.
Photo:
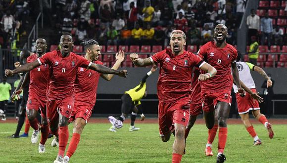
[[(215, 137), (219, 125), (217, 162), (226, 160), (223, 154), (227, 140), (227, 118), (231, 107), (231, 89), (233, 79), (238, 85), (240, 94), (244, 94), (239, 82), (239, 74), (236, 66), (237, 50), (231, 44), (226, 43), (228, 29), (223, 24), (218, 24), (214, 29), (214, 41), (209, 41), (200, 47), (198, 55), (211, 66), (216, 68), (217, 74), (208, 81), (202, 81), (201, 96), (203, 98), (202, 109), (204, 120), (208, 130), (206, 155), (212, 156), (209, 140)], [(232, 73), (231, 73), (232, 67)]]

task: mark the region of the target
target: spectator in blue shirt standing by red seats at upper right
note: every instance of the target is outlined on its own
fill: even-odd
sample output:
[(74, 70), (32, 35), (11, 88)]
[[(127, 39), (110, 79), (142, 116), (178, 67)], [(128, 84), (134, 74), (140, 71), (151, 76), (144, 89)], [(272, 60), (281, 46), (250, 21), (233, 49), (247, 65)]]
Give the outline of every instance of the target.
[(268, 46), (271, 45), (272, 39), (272, 19), (269, 18), (268, 12), (265, 12), (264, 17), (260, 20), (260, 30), (261, 30), (261, 45), (265, 44), (265, 39), (267, 38)]

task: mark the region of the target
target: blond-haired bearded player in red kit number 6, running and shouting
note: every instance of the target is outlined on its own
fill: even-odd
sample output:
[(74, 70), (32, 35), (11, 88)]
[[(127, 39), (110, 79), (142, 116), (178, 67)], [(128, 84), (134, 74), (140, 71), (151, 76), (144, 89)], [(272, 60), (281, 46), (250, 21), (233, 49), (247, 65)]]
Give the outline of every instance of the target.
[(190, 119), (191, 72), (194, 66), (208, 72), (201, 74), (198, 80), (207, 80), (216, 74), (216, 69), (205, 63), (192, 52), (184, 50), (186, 35), (174, 30), (170, 35), (171, 49), (160, 51), (149, 58), (139, 58), (131, 54), (136, 66), (143, 67), (160, 64), (157, 82), (159, 132), (163, 142), (170, 139), (175, 131), (172, 162), (180, 163), (185, 148), (185, 130)]

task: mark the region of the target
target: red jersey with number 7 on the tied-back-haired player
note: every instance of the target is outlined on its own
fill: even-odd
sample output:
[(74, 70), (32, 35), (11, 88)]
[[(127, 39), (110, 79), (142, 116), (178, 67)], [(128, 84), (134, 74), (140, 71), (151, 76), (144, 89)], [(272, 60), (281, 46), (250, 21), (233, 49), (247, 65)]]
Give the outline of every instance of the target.
[[(94, 63), (102, 65), (101, 61), (96, 61)], [(97, 83), (100, 75), (100, 73), (93, 70), (82, 67), (78, 68), (75, 81), (75, 103), (86, 106), (89, 105), (89, 107), (94, 108), (96, 103)]]

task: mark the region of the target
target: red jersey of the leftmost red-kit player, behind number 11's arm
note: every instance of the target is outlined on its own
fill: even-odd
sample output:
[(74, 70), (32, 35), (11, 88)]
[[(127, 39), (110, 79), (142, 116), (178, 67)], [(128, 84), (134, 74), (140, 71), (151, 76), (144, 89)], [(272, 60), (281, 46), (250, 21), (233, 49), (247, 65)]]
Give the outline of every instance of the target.
[[(27, 58), (27, 63), (37, 60), (37, 54)], [(47, 99), (49, 78), (49, 65), (44, 64), (30, 71), (29, 96), (36, 95), (41, 99)]]

